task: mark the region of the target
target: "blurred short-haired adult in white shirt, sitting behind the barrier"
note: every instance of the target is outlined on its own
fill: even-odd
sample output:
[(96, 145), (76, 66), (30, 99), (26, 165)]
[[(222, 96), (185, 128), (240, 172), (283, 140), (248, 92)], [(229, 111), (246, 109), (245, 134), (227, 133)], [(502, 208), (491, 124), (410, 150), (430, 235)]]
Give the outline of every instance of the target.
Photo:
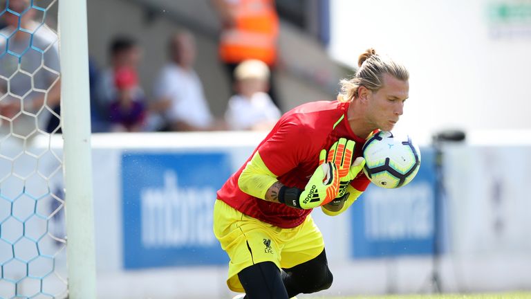
[(165, 130), (209, 131), (223, 129), (209, 111), (203, 84), (194, 71), (196, 44), (182, 31), (169, 40), (169, 62), (162, 67), (155, 85), (156, 102), (151, 111), (162, 114)]

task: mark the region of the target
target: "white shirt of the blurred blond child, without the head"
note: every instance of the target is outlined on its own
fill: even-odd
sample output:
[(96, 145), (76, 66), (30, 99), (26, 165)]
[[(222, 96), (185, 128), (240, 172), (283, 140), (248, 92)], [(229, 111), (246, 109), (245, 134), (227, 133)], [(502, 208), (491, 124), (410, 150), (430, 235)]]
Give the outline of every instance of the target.
[(251, 129), (259, 123), (274, 123), (281, 116), (267, 93), (254, 93), (251, 98), (234, 95), (229, 99), (225, 121), (230, 129)]

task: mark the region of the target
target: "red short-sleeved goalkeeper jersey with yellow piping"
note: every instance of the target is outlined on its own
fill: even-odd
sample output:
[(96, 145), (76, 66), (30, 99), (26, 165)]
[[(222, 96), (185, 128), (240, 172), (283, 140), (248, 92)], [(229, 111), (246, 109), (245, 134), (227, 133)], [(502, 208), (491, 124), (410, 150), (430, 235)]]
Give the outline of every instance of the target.
[[(319, 165), (319, 153), (329, 149), (341, 137), (356, 142), (354, 158), (362, 156), (364, 138), (356, 136), (348, 124), (349, 102), (319, 101), (295, 107), (284, 114), (254, 152), (277, 179), (288, 187), (304, 189)], [(238, 179), (252, 155), (218, 190), (217, 197), (245, 215), (279, 226), (293, 228), (302, 224), (311, 210), (290, 208), (253, 197), (240, 190)], [(370, 181), (360, 172), (351, 185), (364, 191)]]

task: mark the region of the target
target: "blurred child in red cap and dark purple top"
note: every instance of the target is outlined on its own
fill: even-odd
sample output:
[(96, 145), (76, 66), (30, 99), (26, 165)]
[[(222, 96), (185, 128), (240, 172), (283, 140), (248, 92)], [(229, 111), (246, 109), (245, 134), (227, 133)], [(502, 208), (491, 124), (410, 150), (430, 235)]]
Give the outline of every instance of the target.
[(138, 98), (135, 93), (138, 87), (136, 72), (128, 67), (115, 71), (115, 87), (117, 98), (109, 106), (111, 131), (140, 132), (145, 127), (145, 98)]

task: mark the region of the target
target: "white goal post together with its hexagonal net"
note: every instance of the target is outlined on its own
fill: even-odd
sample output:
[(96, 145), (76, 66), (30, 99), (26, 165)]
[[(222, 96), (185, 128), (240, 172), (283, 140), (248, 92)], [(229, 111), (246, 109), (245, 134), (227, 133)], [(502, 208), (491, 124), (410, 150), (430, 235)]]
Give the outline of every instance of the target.
[(0, 23), (0, 298), (96, 298), (86, 0)]

